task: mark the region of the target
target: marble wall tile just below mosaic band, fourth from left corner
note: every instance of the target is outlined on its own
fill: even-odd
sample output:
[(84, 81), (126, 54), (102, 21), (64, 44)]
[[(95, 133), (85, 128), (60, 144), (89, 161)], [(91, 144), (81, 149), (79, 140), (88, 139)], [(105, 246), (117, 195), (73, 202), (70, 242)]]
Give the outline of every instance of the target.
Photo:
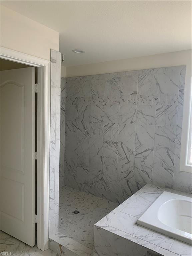
[(119, 122), (119, 103), (105, 104), (104, 122)]

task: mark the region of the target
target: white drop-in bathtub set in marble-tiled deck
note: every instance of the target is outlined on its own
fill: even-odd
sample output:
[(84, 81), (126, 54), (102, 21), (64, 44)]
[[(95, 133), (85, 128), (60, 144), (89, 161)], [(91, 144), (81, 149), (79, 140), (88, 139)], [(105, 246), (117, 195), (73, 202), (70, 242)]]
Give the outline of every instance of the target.
[(192, 244), (192, 199), (163, 192), (137, 224)]

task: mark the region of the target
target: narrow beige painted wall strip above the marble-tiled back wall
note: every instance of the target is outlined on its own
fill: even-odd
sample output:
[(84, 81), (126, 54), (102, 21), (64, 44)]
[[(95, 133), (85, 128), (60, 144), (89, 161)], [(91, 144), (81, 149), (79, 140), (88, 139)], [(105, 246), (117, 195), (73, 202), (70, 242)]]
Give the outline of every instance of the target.
[(187, 65), (189, 75), (191, 72), (191, 50), (66, 67), (66, 77), (180, 65)]

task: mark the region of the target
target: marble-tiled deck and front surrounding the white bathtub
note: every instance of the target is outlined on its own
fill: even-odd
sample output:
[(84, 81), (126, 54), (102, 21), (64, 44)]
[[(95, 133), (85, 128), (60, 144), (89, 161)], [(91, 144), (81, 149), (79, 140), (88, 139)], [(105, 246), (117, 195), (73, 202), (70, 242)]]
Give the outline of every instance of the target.
[[(138, 226), (137, 219), (164, 191), (190, 194), (147, 184), (94, 226), (95, 255), (183, 256), (192, 247), (156, 231)], [(110, 251), (111, 250), (111, 251)], [(115, 254), (114, 254), (115, 252)]]

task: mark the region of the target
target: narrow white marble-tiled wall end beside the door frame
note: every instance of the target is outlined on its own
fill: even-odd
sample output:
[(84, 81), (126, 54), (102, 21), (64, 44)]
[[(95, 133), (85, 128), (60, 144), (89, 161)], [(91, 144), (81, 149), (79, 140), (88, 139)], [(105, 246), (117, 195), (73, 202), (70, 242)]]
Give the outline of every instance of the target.
[(51, 49), (49, 235), (58, 233), (59, 224), (60, 77), (61, 53)]

